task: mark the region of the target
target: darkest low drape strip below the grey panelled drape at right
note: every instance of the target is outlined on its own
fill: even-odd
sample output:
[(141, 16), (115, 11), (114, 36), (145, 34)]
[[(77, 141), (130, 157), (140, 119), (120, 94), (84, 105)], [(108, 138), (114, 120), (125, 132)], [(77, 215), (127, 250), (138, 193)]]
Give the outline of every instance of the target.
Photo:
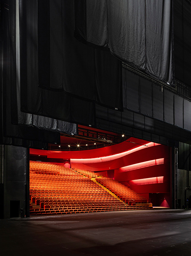
[(115, 115), (108, 108), (96, 105), (97, 128), (125, 134), (171, 147), (178, 147), (178, 141), (191, 144), (189, 131), (124, 109)]

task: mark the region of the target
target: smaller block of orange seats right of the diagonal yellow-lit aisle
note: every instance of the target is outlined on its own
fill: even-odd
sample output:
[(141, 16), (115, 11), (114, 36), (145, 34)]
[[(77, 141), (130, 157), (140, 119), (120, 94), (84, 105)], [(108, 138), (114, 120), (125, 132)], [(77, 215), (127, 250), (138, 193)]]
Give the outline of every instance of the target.
[(113, 192), (115, 195), (117, 195), (121, 200), (125, 201), (129, 205), (131, 204), (141, 204), (147, 203), (147, 199), (143, 198), (138, 193), (134, 192), (130, 188), (126, 187), (125, 185), (121, 184), (120, 182), (117, 182), (116, 180), (113, 180), (112, 178), (96, 178), (97, 182), (99, 182), (104, 187), (108, 188), (111, 192)]

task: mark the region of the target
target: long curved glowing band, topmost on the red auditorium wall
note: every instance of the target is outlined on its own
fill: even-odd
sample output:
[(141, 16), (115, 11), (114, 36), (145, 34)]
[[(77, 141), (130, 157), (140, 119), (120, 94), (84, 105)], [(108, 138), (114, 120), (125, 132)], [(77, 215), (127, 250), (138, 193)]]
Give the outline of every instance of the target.
[(107, 162), (107, 161), (112, 161), (112, 160), (115, 160), (115, 159), (118, 159), (120, 157), (124, 157), (125, 155), (129, 155), (133, 152), (136, 152), (136, 151), (139, 151), (141, 149), (146, 149), (148, 147), (153, 147), (153, 146), (156, 146), (156, 145), (160, 145), (160, 144), (157, 144), (157, 143), (154, 143), (154, 142), (149, 142), (147, 143), (146, 145), (141, 145), (139, 147), (136, 147), (134, 149), (131, 149), (131, 150), (128, 150), (128, 151), (125, 151), (125, 152), (121, 152), (121, 153), (118, 153), (118, 154), (114, 154), (114, 155), (109, 155), (109, 156), (105, 156), (105, 157), (96, 157), (96, 158), (88, 158), (88, 159), (70, 159), (70, 162), (71, 163), (81, 163), (81, 164), (90, 164), (90, 163), (100, 163), (100, 162)]

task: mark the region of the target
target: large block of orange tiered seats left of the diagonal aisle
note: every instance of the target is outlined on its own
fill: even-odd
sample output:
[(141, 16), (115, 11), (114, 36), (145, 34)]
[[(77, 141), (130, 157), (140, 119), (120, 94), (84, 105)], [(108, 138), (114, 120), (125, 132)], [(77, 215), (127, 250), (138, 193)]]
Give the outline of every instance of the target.
[(56, 164), (30, 164), (31, 215), (134, 209), (88, 177)]

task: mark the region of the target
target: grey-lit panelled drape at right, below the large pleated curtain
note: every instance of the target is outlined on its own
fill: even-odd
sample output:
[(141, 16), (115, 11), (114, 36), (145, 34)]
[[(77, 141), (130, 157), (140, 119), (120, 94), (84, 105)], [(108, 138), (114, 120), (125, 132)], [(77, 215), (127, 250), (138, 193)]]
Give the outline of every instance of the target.
[(191, 131), (191, 102), (125, 68), (123, 108)]

